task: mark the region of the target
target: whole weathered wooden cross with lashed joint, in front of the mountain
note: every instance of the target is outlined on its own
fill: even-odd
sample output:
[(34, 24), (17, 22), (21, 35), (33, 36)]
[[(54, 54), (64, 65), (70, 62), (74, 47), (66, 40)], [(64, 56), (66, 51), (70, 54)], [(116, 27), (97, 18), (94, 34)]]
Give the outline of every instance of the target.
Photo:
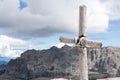
[(60, 37), (60, 41), (64, 43), (75, 43), (79, 48), (79, 72), (80, 80), (88, 80), (88, 64), (87, 64), (87, 46), (101, 48), (102, 43), (86, 40), (86, 6), (79, 8), (79, 36), (78, 39)]

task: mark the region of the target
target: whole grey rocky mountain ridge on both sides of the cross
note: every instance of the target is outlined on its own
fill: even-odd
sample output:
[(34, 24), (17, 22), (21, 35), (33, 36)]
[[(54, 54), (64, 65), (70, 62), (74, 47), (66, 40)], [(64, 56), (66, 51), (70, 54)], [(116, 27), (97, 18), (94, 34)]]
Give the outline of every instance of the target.
[[(88, 48), (87, 52), (89, 72), (98, 72), (102, 77), (120, 76), (120, 48)], [(21, 54), (21, 57), (10, 60), (7, 65), (1, 65), (0, 75), (7, 75), (17, 80), (59, 77), (78, 80), (78, 59), (78, 48), (66, 45), (62, 48), (51, 47), (41, 51), (28, 50)]]

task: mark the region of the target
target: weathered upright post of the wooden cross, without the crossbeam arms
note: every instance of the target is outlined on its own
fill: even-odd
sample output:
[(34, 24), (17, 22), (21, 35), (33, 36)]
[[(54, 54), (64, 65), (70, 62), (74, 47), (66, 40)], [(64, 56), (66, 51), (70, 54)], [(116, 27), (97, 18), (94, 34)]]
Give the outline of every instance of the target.
[[(86, 6), (80, 6), (80, 20), (79, 20), (79, 37), (85, 40), (86, 29)], [(84, 44), (84, 43), (83, 43)], [(79, 69), (80, 80), (88, 80), (88, 64), (87, 64), (87, 49), (86, 45), (79, 44)]]

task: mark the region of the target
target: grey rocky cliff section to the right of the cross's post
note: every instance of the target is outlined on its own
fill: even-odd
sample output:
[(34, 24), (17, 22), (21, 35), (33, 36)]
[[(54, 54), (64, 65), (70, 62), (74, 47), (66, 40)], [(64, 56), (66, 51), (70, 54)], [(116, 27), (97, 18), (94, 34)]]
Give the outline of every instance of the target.
[[(90, 54), (89, 54), (90, 53)], [(89, 69), (109, 76), (120, 76), (120, 48), (88, 49)]]

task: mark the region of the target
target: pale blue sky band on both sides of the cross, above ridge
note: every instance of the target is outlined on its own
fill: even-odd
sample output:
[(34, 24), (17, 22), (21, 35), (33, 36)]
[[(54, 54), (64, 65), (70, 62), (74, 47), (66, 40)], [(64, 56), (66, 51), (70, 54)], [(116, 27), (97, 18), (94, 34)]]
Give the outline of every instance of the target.
[[(76, 38), (78, 35), (77, 34), (68, 34), (68, 33), (55, 34), (55, 35), (49, 37), (50, 40), (48, 40), (48, 38), (40, 38), (40, 40), (41, 41), (44, 40), (47, 42), (47, 44), (44, 45), (44, 48), (46, 48), (46, 47), (49, 48), (50, 46), (59, 44), (60, 36), (65, 36), (68, 38)], [(120, 20), (109, 21), (109, 28), (106, 32), (87, 34), (87, 39), (102, 42), (103, 47), (106, 47), (106, 46), (120, 47)]]

